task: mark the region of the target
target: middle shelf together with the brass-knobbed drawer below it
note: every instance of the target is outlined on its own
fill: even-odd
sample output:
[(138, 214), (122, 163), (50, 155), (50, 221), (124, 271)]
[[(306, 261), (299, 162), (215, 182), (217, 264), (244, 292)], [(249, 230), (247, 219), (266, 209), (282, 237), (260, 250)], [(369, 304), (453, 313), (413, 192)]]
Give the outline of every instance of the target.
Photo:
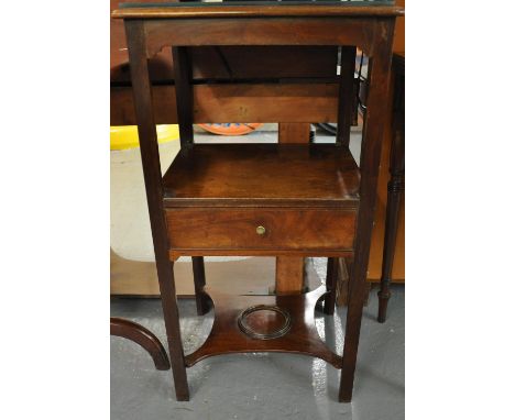
[(349, 255), (359, 180), (333, 144), (182, 150), (163, 177), (171, 257)]

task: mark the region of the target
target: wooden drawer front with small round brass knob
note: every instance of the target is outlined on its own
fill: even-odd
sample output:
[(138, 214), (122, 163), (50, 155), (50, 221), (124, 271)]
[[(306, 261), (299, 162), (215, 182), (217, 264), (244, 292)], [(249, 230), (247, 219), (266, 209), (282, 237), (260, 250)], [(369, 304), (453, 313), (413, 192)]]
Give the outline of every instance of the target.
[(172, 250), (351, 250), (355, 210), (166, 209)]

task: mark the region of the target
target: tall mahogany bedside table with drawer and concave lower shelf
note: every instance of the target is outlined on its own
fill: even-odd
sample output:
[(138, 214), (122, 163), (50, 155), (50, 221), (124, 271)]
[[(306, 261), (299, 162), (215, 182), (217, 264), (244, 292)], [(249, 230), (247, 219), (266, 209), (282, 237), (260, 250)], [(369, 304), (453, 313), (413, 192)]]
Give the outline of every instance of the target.
[[(374, 214), (395, 18), (392, 2), (223, 2), (121, 4), (124, 20), (157, 275), (178, 400), (188, 400), (186, 367), (215, 355), (292, 352), (341, 369), (340, 401), (350, 401)], [(340, 130), (336, 144), (200, 145), (193, 141), (187, 46), (306, 45), (363, 49), (370, 57), (368, 114), (359, 168)], [(147, 58), (173, 47), (180, 152), (161, 173)], [(336, 69), (335, 69), (336, 70)], [(338, 120), (348, 114), (340, 82)], [(242, 110), (244, 114), (244, 110)], [(348, 124), (341, 124), (348, 128)], [(174, 261), (194, 258), (199, 312), (215, 321), (206, 342), (185, 355)], [(205, 286), (202, 257), (327, 256), (327, 288), (302, 295), (231, 296)], [(315, 305), (335, 306), (335, 258), (352, 261), (343, 355), (315, 327)], [(238, 281), (238, 279), (234, 279)]]

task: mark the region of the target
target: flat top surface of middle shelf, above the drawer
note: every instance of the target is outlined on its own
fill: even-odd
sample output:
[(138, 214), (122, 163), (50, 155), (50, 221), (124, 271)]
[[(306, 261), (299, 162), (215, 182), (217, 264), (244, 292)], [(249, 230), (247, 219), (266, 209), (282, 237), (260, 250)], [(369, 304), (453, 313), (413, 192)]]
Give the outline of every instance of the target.
[(335, 144), (197, 144), (164, 175), (164, 205), (355, 208), (359, 183), (349, 150)]

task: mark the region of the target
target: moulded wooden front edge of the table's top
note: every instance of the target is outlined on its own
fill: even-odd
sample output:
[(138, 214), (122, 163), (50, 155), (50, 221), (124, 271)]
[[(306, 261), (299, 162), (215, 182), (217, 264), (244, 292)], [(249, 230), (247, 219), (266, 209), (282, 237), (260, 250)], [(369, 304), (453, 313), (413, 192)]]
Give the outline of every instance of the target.
[[(184, 4), (184, 3), (183, 3)], [(183, 5), (128, 7), (111, 12), (113, 19), (186, 19), (186, 18), (391, 18), (404, 15), (398, 5)], [(212, 3), (211, 3), (212, 4)]]

